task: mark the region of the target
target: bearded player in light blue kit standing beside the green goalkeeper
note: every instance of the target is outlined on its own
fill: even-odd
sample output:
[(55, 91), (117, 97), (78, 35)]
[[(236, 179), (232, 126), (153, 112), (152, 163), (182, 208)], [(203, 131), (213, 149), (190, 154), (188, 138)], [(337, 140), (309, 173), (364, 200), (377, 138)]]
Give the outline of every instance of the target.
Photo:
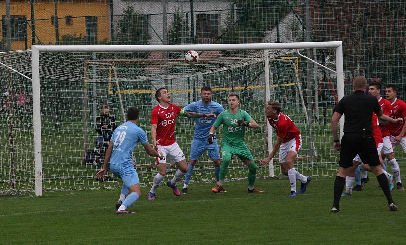
[[(202, 114), (214, 113), (217, 117), (224, 108), (217, 102), (212, 101), (212, 89), (208, 86), (201, 88), (201, 100), (190, 103), (183, 108), (185, 111), (192, 111)], [(213, 141), (213, 144), (207, 143), (209, 137), (209, 130), (214, 124), (216, 119), (214, 117), (201, 117), (196, 118), (196, 126), (194, 129), (194, 136), (192, 146), (190, 147), (190, 159), (187, 166), (188, 171), (185, 175), (185, 183), (182, 189), (182, 195), (185, 195), (188, 191), (189, 180), (193, 174), (193, 168), (196, 165), (197, 159), (205, 152), (208, 151), (209, 157), (214, 163), (214, 175), (216, 180), (219, 181), (220, 173), (220, 154), (217, 140)]]

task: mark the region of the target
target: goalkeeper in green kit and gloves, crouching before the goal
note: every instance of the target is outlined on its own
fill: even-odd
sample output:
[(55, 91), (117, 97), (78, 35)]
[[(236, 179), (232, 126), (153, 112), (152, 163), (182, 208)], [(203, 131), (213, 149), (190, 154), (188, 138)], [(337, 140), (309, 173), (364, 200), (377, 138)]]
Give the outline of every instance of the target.
[(254, 158), (250, 150), (244, 143), (245, 128), (258, 128), (258, 124), (251, 116), (238, 108), (240, 97), (236, 93), (228, 94), (229, 109), (223, 111), (218, 116), (216, 122), (210, 128), (209, 138), (207, 143), (212, 144), (214, 132), (223, 124), (223, 139), (221, 141), (223, 162), (220, 166), (219, 182), (216, 187), (212, 188), (212, 192), (225, 192), (223, 181), (227, 174), (228, 165), (231, 162), (231, 155), (237, 155), (248, 167), (248, 192), (249, 193), (264, 193), (254, 187), (257, 165), (254, 163)]

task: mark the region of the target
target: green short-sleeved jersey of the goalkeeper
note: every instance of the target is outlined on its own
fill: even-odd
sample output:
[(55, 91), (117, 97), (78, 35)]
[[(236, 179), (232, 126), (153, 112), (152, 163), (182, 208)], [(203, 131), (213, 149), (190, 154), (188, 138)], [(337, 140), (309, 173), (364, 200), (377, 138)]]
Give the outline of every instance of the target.
[(218, 116), (214, 126), (218, 128), (221, 124), (223, 125), (223, 139), (221, 140), (222, 145), (226, 144), (237, 147), (240, 145), (245, 145), (245, 126), (239, 126), (237, 124), (238, 120), (244, 120), (249, 123), (252, 118), (247, 112), (241, 109), (238, 109), (237, 113), (235, 114), (230, 113), (230, 109), (228, 109), (221, 112)]

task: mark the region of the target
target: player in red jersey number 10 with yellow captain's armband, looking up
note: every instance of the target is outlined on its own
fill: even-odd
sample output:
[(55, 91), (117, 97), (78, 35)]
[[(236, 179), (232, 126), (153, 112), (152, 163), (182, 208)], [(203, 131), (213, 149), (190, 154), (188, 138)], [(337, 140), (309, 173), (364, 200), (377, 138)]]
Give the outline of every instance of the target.
[(155, 93), (155, 98), (159, 104), (152, 110), (151, 113), (151, 136), (154, 147), (163, 153), (163, 159), (156, 159), (158, 173), (154, 177), (152, 188), (148, 193), (148, 200), (155, 199), (155, 190), (159, 187), (162, 179), (166, 175), (166, 160), (169, 159), (178, 166), (175, 176), (166, 183), (176, 196), (180, 196), (180, 192), (176, 187), (176, 183), (187, 172), (187, 163), (185, 155), (179, 148), (175, 140), (175, 121), (178, 115), (198, 118), (198, 117), (216, 117), (215, 114), (201, 114), (191, 111), (184, 111), (179, 106), (171, 104), (171, 96), (168, 90), (164, 87), (159, 88)]

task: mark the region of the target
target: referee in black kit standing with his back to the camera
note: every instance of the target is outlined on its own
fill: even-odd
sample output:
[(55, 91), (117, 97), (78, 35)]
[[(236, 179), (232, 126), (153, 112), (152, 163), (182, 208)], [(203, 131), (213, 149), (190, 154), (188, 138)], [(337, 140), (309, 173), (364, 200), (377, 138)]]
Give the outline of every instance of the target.
[[(334, 182), (334, 204), (331, 212), (339, 212), (340, 196), (343, 192), (346, 176), (355, 171), (357, 165), (352, 160), (359, 154), (365, 164), (369, 164), (371, 170), (377, 176), (379, 185), (388, 200), (389, 209), (397, 211), (396, 204), (392, 200), (389, 183), (379, 162), (375, 140), (371, 136), (372, 113), (382, 116), (382, 109), (377, 98), (365, 94), (366, 78), (357, 76), (354, 79), (354, 93), (343, 97), (334, 108), (331, 120), (331, 131), (334, 138), (334, 150), (340, 151), (340, 168)], [(339, 140), (337, 123), (344, 114), (344, 135)]]

